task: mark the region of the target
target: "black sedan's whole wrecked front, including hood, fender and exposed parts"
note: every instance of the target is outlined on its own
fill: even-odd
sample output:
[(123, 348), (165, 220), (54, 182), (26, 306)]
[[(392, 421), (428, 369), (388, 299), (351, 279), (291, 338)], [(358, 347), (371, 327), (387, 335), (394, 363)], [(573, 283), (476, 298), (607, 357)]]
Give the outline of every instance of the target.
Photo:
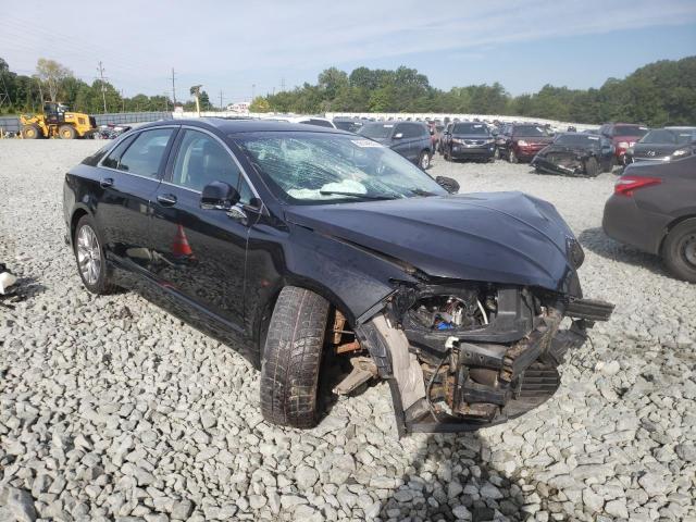
[(295, 248), (307, 244), (288, 257), (290, 269), (330, 288), (345, 312), (333, 344), (352, 356), (353, 372), (334, 390), (387, 380), (400, 434), (476, 430), (537, 407), (559, 386), (566, 353), (613, 309), (583, 299), (582, 247), (550, 203), (529, 195), (286, 215)]

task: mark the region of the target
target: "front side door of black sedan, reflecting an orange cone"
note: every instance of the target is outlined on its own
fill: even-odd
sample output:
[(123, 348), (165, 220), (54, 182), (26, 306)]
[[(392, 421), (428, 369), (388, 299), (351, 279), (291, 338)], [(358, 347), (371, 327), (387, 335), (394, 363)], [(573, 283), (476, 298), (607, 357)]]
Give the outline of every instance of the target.
[(227, 146), (207, 130), (184, 128), (153, 198), (154, 273), (189, 304), (241, 332), (248, 223), (239, 214), (201, 208), (203, 187), (212, 182), (235, 187), (243, 202), (250, 199)]

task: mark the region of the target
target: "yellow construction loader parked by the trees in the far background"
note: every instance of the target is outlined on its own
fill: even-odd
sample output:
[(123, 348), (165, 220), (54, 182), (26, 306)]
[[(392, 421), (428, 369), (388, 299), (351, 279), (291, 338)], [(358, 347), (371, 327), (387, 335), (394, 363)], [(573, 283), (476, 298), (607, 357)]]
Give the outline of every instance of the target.
[(20, 125), (24, 139), (86, 138), (97, 132), (94, 116), (82, 112), (70, 112), (67, 105), (54, 101), (44, 103), (44, 114), (22, 114)]

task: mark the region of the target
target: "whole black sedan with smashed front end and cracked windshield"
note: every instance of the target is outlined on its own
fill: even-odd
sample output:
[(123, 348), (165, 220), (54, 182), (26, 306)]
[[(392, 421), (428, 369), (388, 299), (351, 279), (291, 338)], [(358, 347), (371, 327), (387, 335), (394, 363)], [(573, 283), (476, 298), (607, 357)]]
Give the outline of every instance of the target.
[(612, 309), (583, 299), (551, 204), (449, 195), (337, 129), (159, 122), (72, 169), (63, 196), (85, 287), (140, 291), (239, 350), (277, 424), (318, 422), (334, 357), (353, 368), (336, 393), (388, 381), (401, 434), (504, 422), (554, 394)]

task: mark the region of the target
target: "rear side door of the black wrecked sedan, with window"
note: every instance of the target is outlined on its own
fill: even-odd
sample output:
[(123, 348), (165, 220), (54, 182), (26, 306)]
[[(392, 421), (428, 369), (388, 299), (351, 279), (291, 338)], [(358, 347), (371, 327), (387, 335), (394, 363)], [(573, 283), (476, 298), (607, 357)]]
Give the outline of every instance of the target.
[(148, 270), (151, 198), (160, 185), (176, 126), (142, 130), (123, 139), (101, 161), (95, 220), (110, 260)]

